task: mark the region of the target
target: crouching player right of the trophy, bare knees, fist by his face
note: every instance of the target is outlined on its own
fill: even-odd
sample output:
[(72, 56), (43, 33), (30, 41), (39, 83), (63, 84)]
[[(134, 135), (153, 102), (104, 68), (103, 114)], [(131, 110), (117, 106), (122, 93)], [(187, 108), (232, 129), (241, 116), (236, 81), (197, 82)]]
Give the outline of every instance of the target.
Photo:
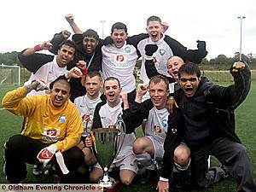
[[(143, 95), (148, 90), (150, 99), (142, 102)], [(140, 124), (142, 124), (143, 119), (148, 119), (145, 125), (145, 137), (138, 137), (133, 143), (133, 152), (136, 154), (138, 166), (141, 168), (146, 167), (147, 177), (155, 169), (155, 160), (163, 158), (167, 130), (170, 127), (175, 127), (175, 125), (169, 125), (172, 115), (166, 109), (168, 95), (168, 80), (161, 75), (157, 75), (150, 79), (149, 85), (138, 85), (135, 105), (132, 106), (133, 117), (139, 119), (138, 122)], [(176, 141), (173, 140), (173, 142)], [(177, 166), (187, 168), (190, 150), (185, 144), (179, 144), (180, 141), (177, 141), (177, 143), (174, 161)], [(141, 182), (147, 182), (147, 177), (146, 180)]]

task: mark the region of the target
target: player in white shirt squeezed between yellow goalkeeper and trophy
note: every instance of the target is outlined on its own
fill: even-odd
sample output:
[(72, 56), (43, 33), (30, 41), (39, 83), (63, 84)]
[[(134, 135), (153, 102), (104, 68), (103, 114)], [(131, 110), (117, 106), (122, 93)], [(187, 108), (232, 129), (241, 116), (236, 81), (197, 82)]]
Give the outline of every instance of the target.
[(96, 162), (96, 158), (91, 149), (86, 147), (86, 143), (88, 142), (90, 145), (90, 140), (87, 136), (90, 134), (96, 105), (99, 102), (102, 102), (102, 93), (100, 92), (100, 89), (102, 88), (101, 73), (91, 71), (84, 76), (82, 81), (86, 94), (84, 96), (79, 96), (74, 100), (74, 104), (79, 109), (79, 114), (84, 125), (84, 132), (78, 147), (84, 152), (84, 163), (90, 166)]

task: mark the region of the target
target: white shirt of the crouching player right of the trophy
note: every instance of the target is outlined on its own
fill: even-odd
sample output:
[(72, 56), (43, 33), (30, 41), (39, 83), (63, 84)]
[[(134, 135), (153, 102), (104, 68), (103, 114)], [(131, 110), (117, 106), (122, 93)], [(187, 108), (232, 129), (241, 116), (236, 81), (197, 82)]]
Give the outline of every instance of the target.
[(164, 144), (166, 132), (168, 129), (168, 115), (166, 108), (152, 108), (148, 113), (148, 119), (145, 126), (145, 135), (154, 137), (155, 140)]

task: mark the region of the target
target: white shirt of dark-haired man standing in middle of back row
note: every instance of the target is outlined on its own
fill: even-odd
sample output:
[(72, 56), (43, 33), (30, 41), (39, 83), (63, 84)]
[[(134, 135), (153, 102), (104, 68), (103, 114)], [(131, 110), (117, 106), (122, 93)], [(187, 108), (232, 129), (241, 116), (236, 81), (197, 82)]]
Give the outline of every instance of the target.
[(137, 61), (137, 49), (131, 44), (116, 48), (112, 44), (102, 46), (102, 79), (119, 79), (122, 90), (135, 90), (133, 70)]

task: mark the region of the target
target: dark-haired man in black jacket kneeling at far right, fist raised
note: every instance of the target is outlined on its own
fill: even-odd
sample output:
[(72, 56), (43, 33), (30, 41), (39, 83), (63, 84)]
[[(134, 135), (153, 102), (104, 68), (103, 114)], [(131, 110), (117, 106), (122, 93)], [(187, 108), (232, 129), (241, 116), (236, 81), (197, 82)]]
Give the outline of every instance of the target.
[[(235, 109), (250, 90), (251, 73), (246, 63), (235, 62), (230, 69), (235, 84), (228, 87), (212, 84), (201, 78), (195, 64), (184, 64), (178, 71), (180, 90), (176, 101), (183, 114), (183, 141), (191, 149), (191, 173), (194, 182), (207, 188), (224, 177), (221, 168), (208, 169), (208, 155), (215, 156), (236, 179), (237, 191), (256, 191), (253, 166), (235, 132)], [(169, 135), (169, 138), (168, 138)], [(167, 132), (161, 177), (172, 172), (172, 131)], [(169, 189), (160, 178), (159, 191)]]

